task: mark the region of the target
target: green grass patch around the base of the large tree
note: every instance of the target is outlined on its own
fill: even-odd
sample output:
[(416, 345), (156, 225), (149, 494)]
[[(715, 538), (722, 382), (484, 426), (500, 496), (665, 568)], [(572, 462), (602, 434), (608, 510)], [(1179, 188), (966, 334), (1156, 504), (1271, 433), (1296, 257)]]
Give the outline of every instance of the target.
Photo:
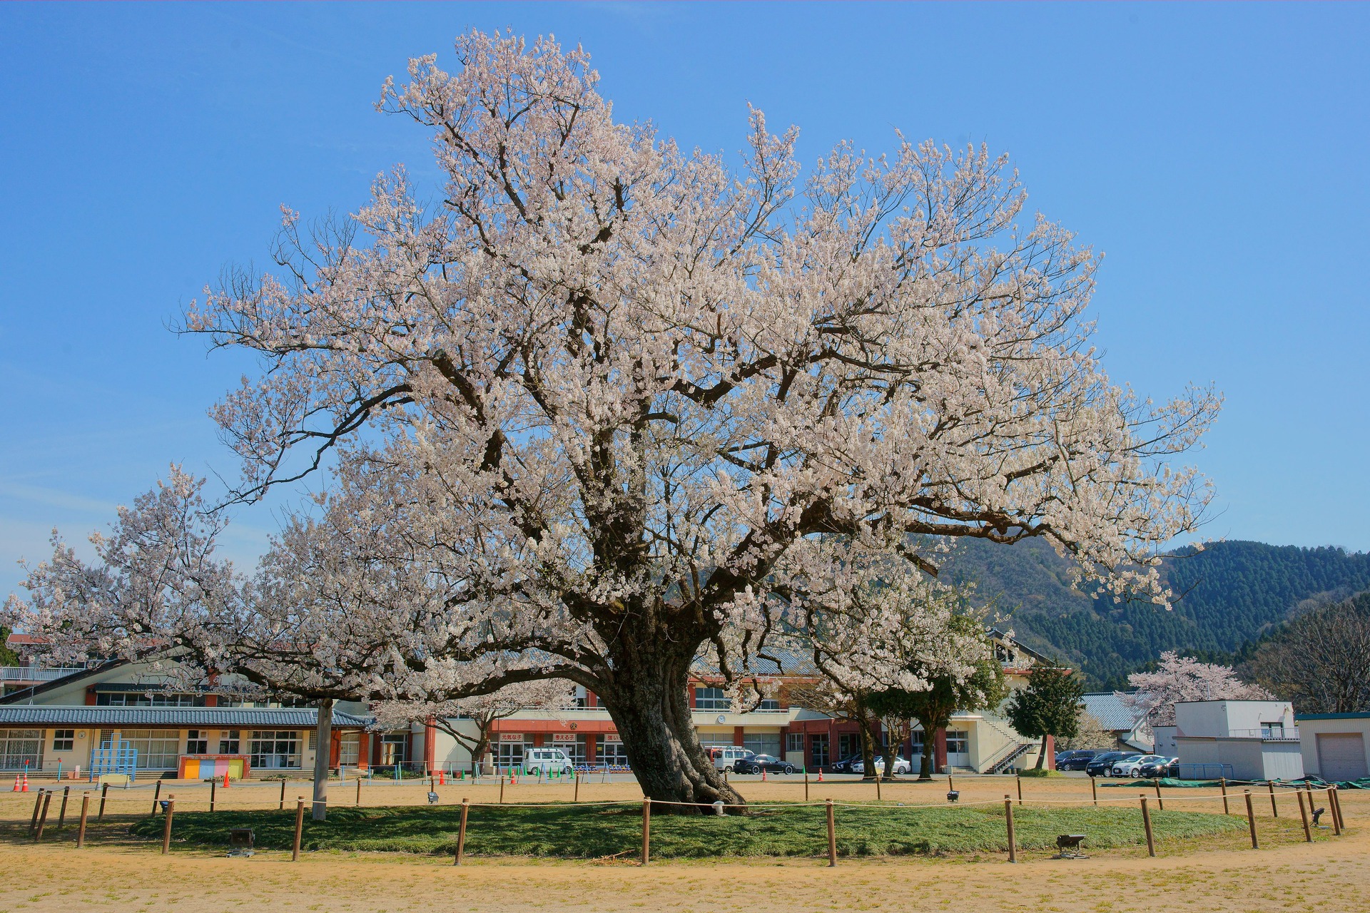
[[(460, 806), (337, 808), (329, 820), (304, 823), (308, 850), (452, 853)], [(636, 854), (641, 845), (640, 806), (480, 806), (467, 824), (471, 856), (595, 858)], [(1093, 849), (1145, 842), (1136, 809), (1015, 808), (1022, 849), (1052, 849), (1058, 834), (1088, 834)], [(181, 846), (225, 847), (229, 828), (256, 830), (259, 849), (289, 849), (295, 812), (182, 812), (173, 839)], [(1236, 817), (1195, 812), (1152, 812), (1156, 839), (1237, 831)], [(136, 836), (162, 838), (162, 819), (132, 827)], [(841, 856), (1003, 853), (1008, 847), (1000, 806), (837, 808)], [(653, 858), (822, 856), (826, 825), (821, 806), (771, 806), (751, 816), (652, 816)]]

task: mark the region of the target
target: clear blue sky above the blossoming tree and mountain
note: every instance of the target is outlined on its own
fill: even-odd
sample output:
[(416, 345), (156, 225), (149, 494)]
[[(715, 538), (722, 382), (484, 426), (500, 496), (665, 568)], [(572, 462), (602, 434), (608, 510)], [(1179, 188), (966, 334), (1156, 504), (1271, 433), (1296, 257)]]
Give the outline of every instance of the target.
[[(1010, 152), (1107, 255), (1111, 375), (1225, 391), (1204, 534), (1370, 549), (1367, 5), (0, 4), (0, 594), (167, 463), (234, 471), (206, 409), (252, 365), (166, 327), (266, 260), (281, 204), (430, 179), (373, 103), (471, 26), (582, 42), (615, 114), (685, 146), (740, 149), (751, 101), (807, 162), (895, 127)], [(230, 553), (275, 524), (241, 512)]]

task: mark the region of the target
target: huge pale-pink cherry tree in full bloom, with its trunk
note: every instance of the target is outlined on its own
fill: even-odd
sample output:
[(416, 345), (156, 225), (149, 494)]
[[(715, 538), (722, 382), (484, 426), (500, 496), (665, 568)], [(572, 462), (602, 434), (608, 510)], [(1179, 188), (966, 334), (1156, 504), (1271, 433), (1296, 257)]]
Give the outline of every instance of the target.
[[(734, 168), (616, 122), (551, 38), (473, 31), (456, 64), (412, 60), (378, 104), (432, 136), (437, 186), (396, 168), (342, 222), (286, 212), (278, 268), (186, 315), (263, 363), (214, 411), (238, 498), (336, 454), (323, 511), (364, 560), (281, 586), (358, 606), (385, 687), (570, 679), (648, 795), (740, 802), (695, 736), (692, 661), (745, 679), (815, 604), (888, 630), (860, 594), (934, 575), (923, 543), (1047, 537), (1166, 601), (1154, 552), (1207, 501), (1169, 459), (1217, 397), (1110, 382), (1097, 259), (1025, 216), (1004, 157), (896, 134), (801, 177), (797, 131), (752, 110)], [(863, 673), (897, 683), (895, 653)]]

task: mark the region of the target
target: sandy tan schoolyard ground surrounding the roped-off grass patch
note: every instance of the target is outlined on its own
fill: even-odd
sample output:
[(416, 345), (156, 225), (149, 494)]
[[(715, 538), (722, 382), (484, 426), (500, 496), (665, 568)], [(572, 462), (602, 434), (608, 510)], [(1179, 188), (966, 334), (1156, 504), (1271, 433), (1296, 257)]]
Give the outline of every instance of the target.
[[(288, 786), (288, 797), (304, 793), (304, 784)], [(958, 779), (962, 801), (1003, 799), (1017, 795), (1011, 777)], [(195, 808), (203, 788), (163, 786), (163, 797), (179, 788), (182, 801)], [(270, 795), (259, 790), (270, 788)], [(381, 790), (386, 790), (381, 793)], [(237, 791), (234, 791), (237, 790)], [(351, 790), (351, 791), (348, 791)], [(452, 790), (449, 793), (449, 790)], [(549, 801), (562, 797), (560, 786), (506, 784), (507, 801)], [(363, 786), (363, 802), (389, 805), (422, 801), (423, 787)], [(497, 801), (497, 786), (448, 787), (443, 801)], [(747, 783), (752, 801), (801, 799), (803, 784)], [(1136, 803), (1143, 787), (1100, 788), (1100, 799)], [(1160, 847), (1160, 858), (1145, 850), (1095, 854), (1089, 860), (1059, 861), (1045, 854), (1025, 854), (1017, 865), (1003, 857), (841, 860), (836, 869), (814, 860), (758, 860), (727, 862), (653, 862), (647, 868), (615, 862), (536, 862), (473, 860), (453, 868), (448, 860), (395, 854), (306, 854), (292, 864), (288, 854), (259, 853), (251, 860), (230, 860), (208, 853), (173, 849), (160, 856), (158, 846), (122, 836), (127, 814), (145, 814), (151, 791), (133, 790), (116, 805), (111, 790), (108, 819), (92, 825), (90, 842), (74, 846), (71, 820), (79, 799), (68, 805), (68, 824), (33, 845), (26, 836), (33, 794), (0, 794), (0, 869), (5, 910), (163, 910), (218, 913), (221, 910), (358, 910), (399, 913), (407, 910), (1032, 910), (1033, 913), (1152, 913), (1154, 910), (1204, 910), (1206, 913), (1256, 910), (1370, 910), (1370, 794), (1344, 793), (1348, 832), (1333, 838), (1319, 831), (1304, 843), (1297, 805), (1289, 794), (1278, 797), (1280, 817), (1270, 814), (1269, 795), (1254, 802), (1262, 849), (1252, 850), (1245, 832), (1225, 839), (1215, 849)], [(275, 805), (279, 787), (234, 786), (227, 791), (238, 808)], [(375, 793), (370, 797), (369, 793)], [(410, 794), (414, 794), (412, 798)], [(866, 795), (870, 793), (870, 795)], [(945, 780), (938, 786), (882, 787), (885, 801), (945, 801)], [(1154, 795), (1154, 793), (1149, 793)], [(134, 799), (134, 795), (137, 798)], [(810, 784), (810, 798), (869, 801), (874, 787), (847, 782)], [(1211, 790), (1166, 790), (1166, 808), (1221, 812)], [(192, 797), (196, 797), (192, 801)], [(634, 784), (582, 784), (581, 801), (632, 799)], [(219, 799), (229, 797), (219, 793)], [(333, 802), (355, 799), (355, 786), (334, 787)], [(1092, 801), (1084, 779), (1023, 782), (1025, 802)], [(253, 799), (253, 801), (249, 801)], [(134, 803), (137, 803), (134, 806)], [(351, 803), (351, 801), (345, 802)], [(1319, 801), (1325, 805), (1325, 801)], [(199, 805), (204, 808), (204, 805)], [(1234, 791), (1233, 813), (1244, 813), (1244, 799)], [(49, 810), (49, 828), (56, 808)], [(51, 842), (49, 842), (51, 840)]]

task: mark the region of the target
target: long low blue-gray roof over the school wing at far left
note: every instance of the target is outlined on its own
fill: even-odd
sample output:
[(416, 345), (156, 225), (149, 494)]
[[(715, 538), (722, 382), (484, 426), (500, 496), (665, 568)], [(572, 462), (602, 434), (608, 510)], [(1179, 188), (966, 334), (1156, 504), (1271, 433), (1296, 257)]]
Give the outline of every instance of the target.
[[(293, 708), (227, 706), (0, 706), (0, 725), (73, 725), (114, 728), (119, 725), (233, 727), (312, 730), (318, 712)], [(333, 710), (333, 725), (359, 728), (369, 719)]]

